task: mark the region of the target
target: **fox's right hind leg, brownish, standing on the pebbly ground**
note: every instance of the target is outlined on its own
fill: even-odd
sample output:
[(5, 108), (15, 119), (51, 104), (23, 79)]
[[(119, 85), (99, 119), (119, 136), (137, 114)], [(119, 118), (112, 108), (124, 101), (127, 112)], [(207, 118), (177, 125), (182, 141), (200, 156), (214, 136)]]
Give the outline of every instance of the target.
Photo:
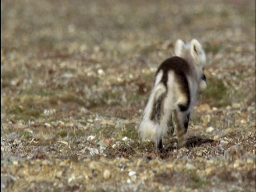
[(174, 111), (174, 119), (177, 124), (178, 147), (185, 146), (187, 139), (189, 116), (189, 113), (181, 112), (179, 109)]

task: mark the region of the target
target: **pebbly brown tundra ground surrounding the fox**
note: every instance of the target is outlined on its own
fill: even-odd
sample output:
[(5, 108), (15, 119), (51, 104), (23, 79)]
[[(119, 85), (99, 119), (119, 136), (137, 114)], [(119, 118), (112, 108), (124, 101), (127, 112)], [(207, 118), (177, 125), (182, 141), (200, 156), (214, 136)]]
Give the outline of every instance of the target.
[[(1, 1), (1, 189), (255, 191), (255, 1), (191, 3)], [(178, 38), (207, 89), (196, 145), (156, 154), (137, 128)]]

